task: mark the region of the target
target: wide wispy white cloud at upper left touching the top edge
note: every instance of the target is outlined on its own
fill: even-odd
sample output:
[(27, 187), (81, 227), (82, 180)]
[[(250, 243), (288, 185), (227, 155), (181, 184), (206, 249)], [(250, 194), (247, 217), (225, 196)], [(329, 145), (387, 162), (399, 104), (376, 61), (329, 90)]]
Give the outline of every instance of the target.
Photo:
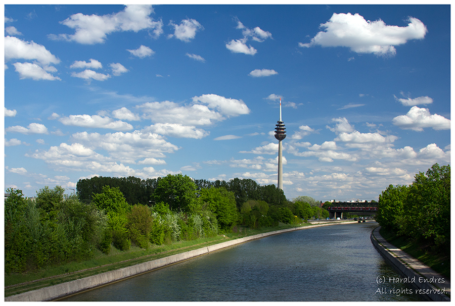
[(76, 41), (82, 44), (103, 43), (108, 34), (121, 31), (153, 30), (156, 37), (163, 33), (163, 22), (154, 21), (151, 5), (127, 5), (121, 12), (103, 16), (77, 13), (60, 23), (75, 30), (74, 34), (50, 34), (51, 39)]

